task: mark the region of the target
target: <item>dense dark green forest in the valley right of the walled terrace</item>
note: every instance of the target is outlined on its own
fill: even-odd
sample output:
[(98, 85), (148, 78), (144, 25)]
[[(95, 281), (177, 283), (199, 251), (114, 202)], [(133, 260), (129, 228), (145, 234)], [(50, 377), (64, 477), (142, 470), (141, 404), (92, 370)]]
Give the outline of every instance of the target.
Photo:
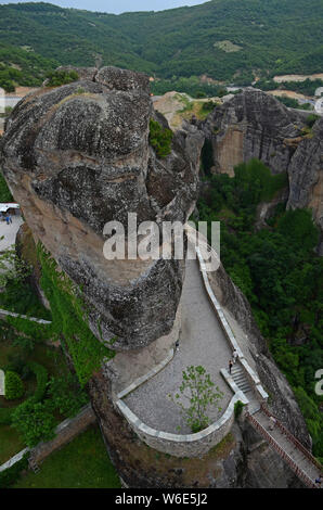
[[(314, 247), (319, 232), (311, 212), (276, 206), (256, 228), (257, 206), (287, 186), (254, 160), (235, 167), (234, 177), (208, 175), (199, 199), (199, 220), (221, 221), (221, 262), (248, 298), (269, 348), (294, 388), (322, 460), (322, 396), (314, 392), (323, 367), (323, 259)], [(195, 218), (197, 219), (197, 218)]]

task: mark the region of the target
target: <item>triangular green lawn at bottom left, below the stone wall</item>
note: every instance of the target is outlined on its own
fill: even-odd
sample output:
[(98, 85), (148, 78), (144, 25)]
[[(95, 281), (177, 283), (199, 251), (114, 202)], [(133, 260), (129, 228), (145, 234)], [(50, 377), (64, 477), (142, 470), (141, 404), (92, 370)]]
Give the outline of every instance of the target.
[[(64, 469), (62, 469), (64, 467)], [(14, 488), (120, 488), (99, 426), (91, 426), (53, 452), (38, 474), (28, 472)]]

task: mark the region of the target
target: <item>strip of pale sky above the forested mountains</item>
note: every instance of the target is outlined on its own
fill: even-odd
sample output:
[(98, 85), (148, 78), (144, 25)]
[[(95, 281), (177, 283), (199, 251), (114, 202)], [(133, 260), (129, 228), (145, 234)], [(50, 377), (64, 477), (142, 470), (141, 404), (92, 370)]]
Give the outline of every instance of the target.
[[(5, 3), (23, 3), (24, 0), (0, 1)], [(62, 8), (86, 9), (88, 11), (111, 12), (119, 14), (129, 11), (164, 11), (165, 9), (175, 9), (183, 5), (197, 5), (207, 0), (52, 0), (48, 3), (54, 3)]]

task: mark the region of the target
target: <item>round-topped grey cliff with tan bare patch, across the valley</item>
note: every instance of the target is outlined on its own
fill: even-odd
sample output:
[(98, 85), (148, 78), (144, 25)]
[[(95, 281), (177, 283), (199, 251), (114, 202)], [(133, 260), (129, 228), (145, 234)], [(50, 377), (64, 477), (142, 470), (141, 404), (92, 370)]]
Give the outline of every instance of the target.
[(214, 171), (233, 168), (253, 157), (274, 174), (287, 171), (303, 122), (272, 95), (246, 89), (217, 106), (202, 126), (212, 142)]

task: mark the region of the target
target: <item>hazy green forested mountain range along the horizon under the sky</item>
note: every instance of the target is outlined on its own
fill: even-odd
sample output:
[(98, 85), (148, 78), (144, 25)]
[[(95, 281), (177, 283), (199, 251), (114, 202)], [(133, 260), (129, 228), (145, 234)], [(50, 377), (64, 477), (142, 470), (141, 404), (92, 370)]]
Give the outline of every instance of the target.
[[(153, 7), (153, 2), (152, 2)], [(121, 15), (48, 3), (0, 5), (0, 40), (61, 64), (102, 64), (163, 78), (322, 72), (322, 0), (212, 0)]]

